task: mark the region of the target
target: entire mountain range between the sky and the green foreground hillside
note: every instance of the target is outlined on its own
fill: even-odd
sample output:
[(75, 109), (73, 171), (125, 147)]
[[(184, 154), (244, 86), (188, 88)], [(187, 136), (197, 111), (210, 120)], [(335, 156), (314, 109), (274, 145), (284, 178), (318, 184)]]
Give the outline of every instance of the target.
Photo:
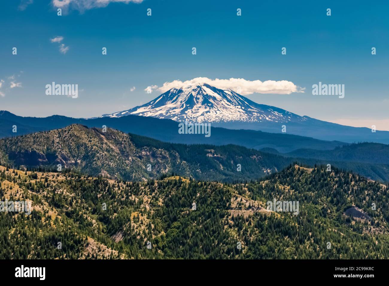
[[(180, 134), (178, 121), (184, 120), (210, 121), (211, 136)], [(231, 127), (230, 124), (265, 129), (282, 124), (287, 132), (215, 127)], [(373, 180), (389, 181), (387, 144), (355, 144), (291, 134), (288, 130), (297, 125), (309, 134), (309, 130), (315, 130), (326, 138), (331, 134), (336, 138), (357, 136), (358, 141), (363, 141), (365, 135), (384, 138), (389, 133), (298, 116), (208, 84), (173, 88), (141, 107), (99, 118), (35, 118), (0, 111), (0, 138), (8, 137), (1, 140), (2, 158), (15, 165), (53, 167), (54, 163), (63, 163), (80, 172), (125, 180), (145, 180), (177, 172), (200, 180), (231, 181), (257, 179), (284, 168), (295, 158), (308, 165), (335, 164)], [(107, 133), (101, 131), (103, 128), (107, 128)], [(60, 144), (61, 141), (64, 143)], [(236, 154), (241, 154), (242, 160), (237, 160)], [(261, 160), (251, 166), (252, 156)], [(240, 161), (250, 167), (236, 173)], [(155, 163), (151, 172), (144, 170), (147, 163)]]

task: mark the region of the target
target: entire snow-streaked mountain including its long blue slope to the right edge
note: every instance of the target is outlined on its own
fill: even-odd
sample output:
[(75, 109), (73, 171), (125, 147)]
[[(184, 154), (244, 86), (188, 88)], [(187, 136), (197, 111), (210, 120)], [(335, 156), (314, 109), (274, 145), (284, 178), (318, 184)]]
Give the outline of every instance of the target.
[[(150, 102), (128, 110), (103, 114), (100, 118), (128, 115), (149, 116), (175, 121), (212, 123), (229, 129), (261, 130), (343, 142), (377, 142), (389, 144), (388, 131), (343, 126), (309, 116), (299, 116), (270, 105), (257, 104), (231, 89), (209, 84), (172, 88)], [(374, 125), (374, 122), (372, 122)]]

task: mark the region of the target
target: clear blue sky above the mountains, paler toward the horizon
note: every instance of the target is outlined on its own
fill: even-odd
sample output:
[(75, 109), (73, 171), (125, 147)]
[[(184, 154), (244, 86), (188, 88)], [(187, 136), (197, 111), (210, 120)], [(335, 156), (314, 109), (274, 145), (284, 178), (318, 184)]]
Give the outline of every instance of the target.
[[(387, 1), (139, 2), (93, 7), (96, 0), (71, 0), (57, 16), (52, 0), (1, 1), (0, 109), (92, 117), (144, 104), (161, 93), (146, 93), (147, 86), (174, 80), (285, 80), (305, 92), (245, 96), (299, 115), (389, 130)], [(55, 37), (63, 39), (51, 42)], [(79, 97), (46, 95), (53, 81), (78, 84)], [(344, 84), (345, 97), (312, 95), (319, 82)]]

